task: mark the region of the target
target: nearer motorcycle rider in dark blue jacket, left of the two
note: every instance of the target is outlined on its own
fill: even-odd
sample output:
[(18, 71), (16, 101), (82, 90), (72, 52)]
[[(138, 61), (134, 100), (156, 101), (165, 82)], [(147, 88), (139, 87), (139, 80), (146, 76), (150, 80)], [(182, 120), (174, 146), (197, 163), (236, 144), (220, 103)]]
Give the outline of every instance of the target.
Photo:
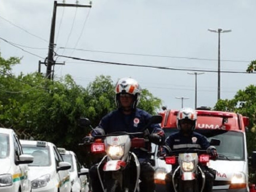
[[(121, 78), (115, 87), (115, 102), (117, 110), (104, 116), (100, 124), (91, 132), (92, 137), (96, 135), (109, 134), (112, 132), (144, 132), (151, 115), (138, 109), (141, 88), (138, 82), (132, 78)], [(158, 124), (148, 126), (150, 142), (164, 144), (164, 132)], [(134, 149), (133, 152), (140, 162), (140, 191), (154, 192), (154, 169), (148, 162), (148, 150), (150, 144), (144, 150)], [(90, 168), (89, 174), (94, 192), (102, 192), (98, 178), (97, 165)]]

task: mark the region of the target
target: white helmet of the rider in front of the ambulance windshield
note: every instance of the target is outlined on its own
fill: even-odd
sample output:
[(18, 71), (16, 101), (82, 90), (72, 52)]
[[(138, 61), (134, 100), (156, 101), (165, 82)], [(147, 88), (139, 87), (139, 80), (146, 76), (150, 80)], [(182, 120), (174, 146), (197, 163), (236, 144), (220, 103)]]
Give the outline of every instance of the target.
[(177, 114), (177, 120), (176, 120), (178, 130), (180, 130), (180, 120), (184, 120), (184, 119), (191, 120), (191, 122), (193, 123), (192, 131), (195, 130), (196, 120), (197, 120), (196, 111), (192, 108), (182, 108), (179, 110)]

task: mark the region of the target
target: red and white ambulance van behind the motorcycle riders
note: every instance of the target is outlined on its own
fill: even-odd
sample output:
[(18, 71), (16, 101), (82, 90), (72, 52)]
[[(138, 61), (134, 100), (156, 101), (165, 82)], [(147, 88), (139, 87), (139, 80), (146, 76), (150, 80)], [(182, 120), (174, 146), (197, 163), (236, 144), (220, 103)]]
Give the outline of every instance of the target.
[[(246, 148), (247, 117), (232, 112), (196, 110), (198, 120), (196, 132), (210, 139), (220, 140), (216, 146), (218, 159), (208, 162), (208, 166), (216, 170), (214, 192), (248, 192), (248, 154)], [(178, 131), (176, 128), (177, 110), (160, 112), (163, 117), (161, 124), (166, 137)], [(165, 191), (165, 174), (170, 172), (171, 165), (157, 156), (159, 149), (155, 148), (155, 183), (158, 191)], [(254, 158), (254, 157), (253, 157)], [(252, 160), (255, 162), (255, 159)]]

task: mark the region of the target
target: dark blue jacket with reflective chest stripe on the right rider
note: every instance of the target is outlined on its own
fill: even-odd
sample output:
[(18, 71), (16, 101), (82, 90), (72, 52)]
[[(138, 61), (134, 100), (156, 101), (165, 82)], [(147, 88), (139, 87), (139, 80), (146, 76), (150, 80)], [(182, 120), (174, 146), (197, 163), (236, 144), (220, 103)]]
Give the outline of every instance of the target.
[(188, 148), (206, 150), (210, 146), (207, 138), (197, 132), (192, 132), (188, 137), (183, 136), (180, 132), (176, 132), (171, 134), (165, 142), (172, 150)]

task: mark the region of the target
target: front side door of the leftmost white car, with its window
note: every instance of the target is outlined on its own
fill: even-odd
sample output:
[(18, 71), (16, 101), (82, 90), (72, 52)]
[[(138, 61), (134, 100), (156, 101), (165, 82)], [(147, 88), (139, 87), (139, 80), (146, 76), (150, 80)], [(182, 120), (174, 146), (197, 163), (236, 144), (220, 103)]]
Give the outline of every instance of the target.
[[(13, 135), (14, 141), (14, 161), (19, 160), (19, 156), (23, 154), (22, 147), (17, 136)], [(20, 181), (20, 187), (22, 192), (30, 192), (30, 181), (28, 180), (28, 164), (16, 164), (13, 180)]]

